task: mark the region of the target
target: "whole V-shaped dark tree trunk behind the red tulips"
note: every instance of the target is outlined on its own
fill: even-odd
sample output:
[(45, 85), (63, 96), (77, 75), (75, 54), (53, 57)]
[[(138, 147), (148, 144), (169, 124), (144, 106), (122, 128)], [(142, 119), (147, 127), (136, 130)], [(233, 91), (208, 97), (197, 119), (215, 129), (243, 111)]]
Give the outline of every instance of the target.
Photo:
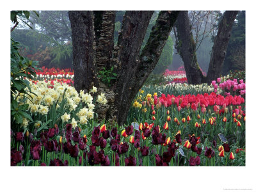
[(210, 84), (212, 80), (220, 77), (230, 33), (237, 13), (237, 11), (226, 11), (223, 19), (218, 24), (218, 33), (214, 39), (207, 77), (203, 76), (196, 59), (196, 44), (191, 32), (191, 26), (189, 25), (188, 12), (179, 13), (179, 17), (175, 23), (177, 37), (179, 39), (176, 46), (184, 62), (189, 84)]

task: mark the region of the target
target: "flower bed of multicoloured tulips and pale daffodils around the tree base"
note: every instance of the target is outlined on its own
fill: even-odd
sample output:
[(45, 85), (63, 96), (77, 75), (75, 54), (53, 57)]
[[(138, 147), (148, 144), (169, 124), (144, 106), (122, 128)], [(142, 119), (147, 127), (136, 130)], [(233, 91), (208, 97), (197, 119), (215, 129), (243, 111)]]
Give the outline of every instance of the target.
[(29, 83), (37, 96), (17, 101), (29, 104), (33, 121), (12, 124), (12, 166), (245, 166), (242, 81), (227, 82), (237, 86), (229, 94), (216, 82), (143, 86), (124, 126), (97, 121), (93, 110), (106, 104), (97, 88)]

